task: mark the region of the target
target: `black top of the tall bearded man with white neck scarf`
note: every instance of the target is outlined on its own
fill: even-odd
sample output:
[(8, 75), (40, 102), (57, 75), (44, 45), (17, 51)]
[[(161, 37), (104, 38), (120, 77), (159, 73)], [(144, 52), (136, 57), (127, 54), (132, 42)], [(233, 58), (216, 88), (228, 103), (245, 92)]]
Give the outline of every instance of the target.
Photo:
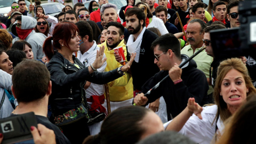
[[(141, 86), (159, 71), (159, 68), (154, 63), (154, 51), (150, 49), (151, 43), (153, 43), (156, 38), (158, 38), (158, 36), (155, 33), (146, 29), (140, 45), (139, 62), (132, 62), (133, 86), (137, 90), (141, 90)], [(127, 60), (130, 60), (130, 53), (127, 54)]]

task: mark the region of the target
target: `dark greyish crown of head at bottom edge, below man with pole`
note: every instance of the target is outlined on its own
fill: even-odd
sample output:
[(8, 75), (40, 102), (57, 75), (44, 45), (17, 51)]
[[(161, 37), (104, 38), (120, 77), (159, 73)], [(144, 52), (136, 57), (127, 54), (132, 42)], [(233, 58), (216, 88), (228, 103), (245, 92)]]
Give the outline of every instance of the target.
[[(211, 0), (210, 0), (211, 1)], [(186, 143), (186, 144), (196, 144), (194, 141), (191, 141), (185, 135), (182, 135), (175, 131), (164, 131), (159, 132), (150, 137), (147, 137), (137, 144), (179, 144), (179, 143)]]

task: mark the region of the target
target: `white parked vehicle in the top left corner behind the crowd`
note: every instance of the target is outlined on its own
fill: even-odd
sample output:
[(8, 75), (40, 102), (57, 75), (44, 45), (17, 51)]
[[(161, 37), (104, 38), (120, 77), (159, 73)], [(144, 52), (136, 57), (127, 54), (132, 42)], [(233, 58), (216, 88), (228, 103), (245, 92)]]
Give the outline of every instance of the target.
[[(5, 23), (6, 20), (9, 18), (8, 13), (11, 11), (11, 5), (13, 2), (17, 2), (18, 0), (0, 0), (0, 21)], [(29, 6), (30, 2), (25, 1), (27, 7)]]

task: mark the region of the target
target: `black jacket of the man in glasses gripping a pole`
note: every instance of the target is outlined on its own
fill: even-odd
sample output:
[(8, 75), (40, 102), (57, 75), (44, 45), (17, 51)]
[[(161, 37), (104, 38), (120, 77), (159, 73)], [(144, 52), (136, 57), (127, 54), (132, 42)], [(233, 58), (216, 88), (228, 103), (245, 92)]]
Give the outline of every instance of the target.
[[(182, 54), (181, 58), (182, 60), (186, 60), (188, 59), (188, 56)], [(188, 66), (182, 68), (182, 82), (174, 85), (172, 79), (168, 77), (155, 91), (151, 91), (151, 93), (147, 95), (148, 103), (154, 102), (156, 99), (163, 96), (166, 103), (167, 117), (169, 120), (170, 114), (175, 117), (187, 107), (189, 98), (195, 98), (196, 102), (201, 106), (209, 103), (209, 99), (207, 99), (207, 91), (209, 86), (207, 84), (206, 76), (203, 71), (197, 69), (196, 67), (196, 62), (194, 60), (189, 61)], [(168, 70), (159, 71), (159, 73), (151, 77), (142, 86), (142, 92), (147, 93), (148, 90), (154, 87), (167, 75), (169, 75)]]

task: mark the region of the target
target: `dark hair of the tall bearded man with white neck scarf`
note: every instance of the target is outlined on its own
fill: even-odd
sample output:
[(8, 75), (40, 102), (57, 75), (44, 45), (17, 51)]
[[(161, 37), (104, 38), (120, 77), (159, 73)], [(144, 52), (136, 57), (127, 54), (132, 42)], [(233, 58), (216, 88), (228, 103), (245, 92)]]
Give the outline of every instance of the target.
[(142, 27), (146, 26), (146, 15), (142, 9), (139, 7), (131, 7), (130, 9), (127, 9), (125, 12), (125, 17), (131, 17), (132, 15), (136, 15), (136, 17), (139, 19), (139, 22), (140, 20), (143, 20)]

